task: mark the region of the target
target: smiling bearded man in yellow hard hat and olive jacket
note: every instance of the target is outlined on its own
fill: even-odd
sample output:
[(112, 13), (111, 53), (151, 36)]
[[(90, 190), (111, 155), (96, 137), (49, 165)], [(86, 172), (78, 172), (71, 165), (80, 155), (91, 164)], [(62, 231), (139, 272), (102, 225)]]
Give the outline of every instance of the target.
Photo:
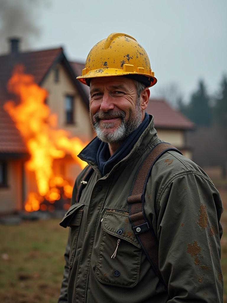
[(201, 168), (168, 151), (145, 184), (161, 279), (129, 220), (134, 177), (161, 142), (145, 112), (157, 81), (145, 50), (128, 35), (111, 34), (91, 49), (78, 79), (90, 86), (97, 137), (79, 155), (89, 166), (60, 223), (70, 232), (58, 302), (222, 302), (222, 202)]

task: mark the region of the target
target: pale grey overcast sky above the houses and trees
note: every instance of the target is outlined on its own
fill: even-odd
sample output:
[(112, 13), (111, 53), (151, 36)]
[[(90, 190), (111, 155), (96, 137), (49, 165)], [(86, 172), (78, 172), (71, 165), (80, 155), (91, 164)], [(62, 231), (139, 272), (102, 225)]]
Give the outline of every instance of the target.
[[(42, 0), (38, 7), (36, 0), (16, 3), (22, 9), (29, 1), (33, 2), (28, 7), (30, 19), (39, 29), (29, 48), (63, 46), (68, 59), (84, 62), (98, 41), (112, 32), (127, 33), (149, 55), (158, 79), (151, 88), (153, 97), (175, 83), (187, 100), (199, 79), (213, 93), (227, 73), (226, 0)], [(10, 34), (18, 35), (15, 28)]]

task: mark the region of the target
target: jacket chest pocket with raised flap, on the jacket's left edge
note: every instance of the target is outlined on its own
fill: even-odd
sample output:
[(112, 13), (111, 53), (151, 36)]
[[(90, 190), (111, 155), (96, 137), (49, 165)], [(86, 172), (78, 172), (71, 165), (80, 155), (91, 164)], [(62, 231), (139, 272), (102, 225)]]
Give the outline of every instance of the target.
[(71, 205), (68, 211), (65, 213), (60, 225), (63, 227), (70, 227), (69, 231), (69, 241), (70, 241), (70, 253), (69, 253), (69, 264), (68, 267), (71, 268), (74, 261), (75, 251), (77, 247), (77, 238), (80, 230), (81, 218), (83, 215), (83, 209), (81, 209), (84, 204), (76, 203)]

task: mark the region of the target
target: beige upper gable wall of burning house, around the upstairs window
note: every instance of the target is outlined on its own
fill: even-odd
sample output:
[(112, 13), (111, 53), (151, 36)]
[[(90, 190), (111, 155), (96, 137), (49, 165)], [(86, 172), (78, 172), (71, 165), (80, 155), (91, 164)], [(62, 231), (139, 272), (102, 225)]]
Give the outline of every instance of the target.
[[(93, 132), (90, 125), (90, 118), (88, 116), (88, 109), (63, 65), (59, 64), (56, 67), (59, 68), (59, 82), (54, 82), (53, 69), (49, 72), (47, 78), (42, 84), (42, 87), (49, 93), (47, 104), (51, 109), (51, 113), (55, 113), (58, 116), (58, 128), (69, 131), (71, 136), (77, 136), (82, 141), (90, 141), (93, 138)], [(75, 97), (75, 123), (70, 125), (65, 123), (64, 97), (66, 95), (73, 95)]]

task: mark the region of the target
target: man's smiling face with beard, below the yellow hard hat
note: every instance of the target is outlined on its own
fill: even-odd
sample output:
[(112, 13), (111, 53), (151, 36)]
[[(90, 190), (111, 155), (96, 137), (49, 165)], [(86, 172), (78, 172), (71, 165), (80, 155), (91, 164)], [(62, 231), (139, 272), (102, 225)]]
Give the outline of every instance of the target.
[(142, 119), (135, 82), (123, 77), (91, 79), (90, 119), (100, 140), (117, 143), (127, 138)]

